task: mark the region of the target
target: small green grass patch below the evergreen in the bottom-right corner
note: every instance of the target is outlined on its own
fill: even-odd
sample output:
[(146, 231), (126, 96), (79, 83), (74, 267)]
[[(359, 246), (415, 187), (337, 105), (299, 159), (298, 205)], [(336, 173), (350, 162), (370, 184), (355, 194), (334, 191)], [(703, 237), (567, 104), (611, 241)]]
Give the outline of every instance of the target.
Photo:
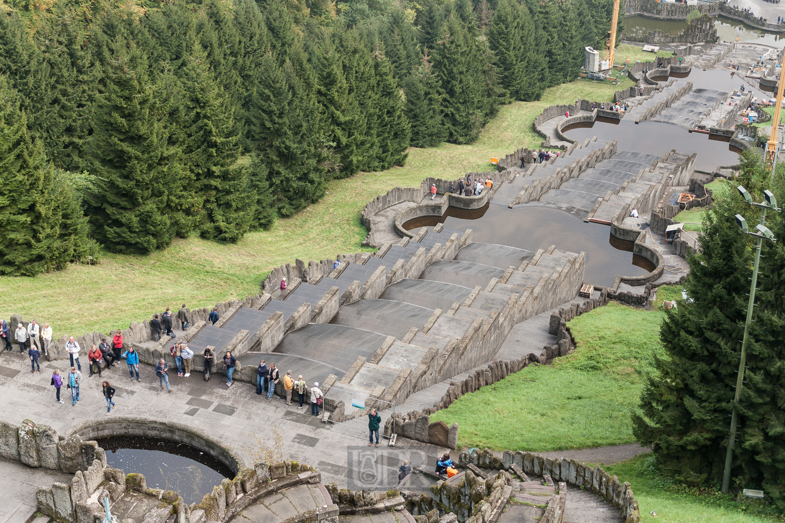
[[(641, 521), (652, 523), (754, 523), (781, 521), (772, 507), (752, 501), (738, 503), (732, 496), (708, 488), (687, 488), (663, 478), (653, 467), (653, 458), (643, 454), (633, 459), (603, 465), (619, 481), (630, 481), (641, 508)], [(657, 517), (652, 515), (655, 511)]]

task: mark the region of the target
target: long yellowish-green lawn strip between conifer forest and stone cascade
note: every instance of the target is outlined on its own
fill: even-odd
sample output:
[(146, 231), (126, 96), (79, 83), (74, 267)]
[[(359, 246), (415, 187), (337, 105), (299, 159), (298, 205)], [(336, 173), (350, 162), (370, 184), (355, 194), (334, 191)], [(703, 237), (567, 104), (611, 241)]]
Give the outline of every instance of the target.
[(367, 234), (360, 211), (377, 194), (396, 186), (416, 187), (425, 176), (488, 170), (492, 156), (539, 146), (542, 139), (531, 123), (545, 107), (579, 98), (610, 101), (616, 90), (629, 85), (629, 80), (620, 85), (571, 82), (546, 90), (542, 100), (506, 105), (475, 143), (411, 148), (404, 167), (333, 180), (320, 202), (279, 220), (270, 231), (246, 234), (236, 244), (177, 239), (169, 249), (148, 256), (105, 253), (97, 266), (72, 264), (36, 278), (0, 277), (0, 318), (16, 313), (49, 321), (57, 338), (125, 328), (166, 306), (206, 307), (254, 294), (272, 267), (295, 258), (320, 260), (371, 250), (360, 248)]

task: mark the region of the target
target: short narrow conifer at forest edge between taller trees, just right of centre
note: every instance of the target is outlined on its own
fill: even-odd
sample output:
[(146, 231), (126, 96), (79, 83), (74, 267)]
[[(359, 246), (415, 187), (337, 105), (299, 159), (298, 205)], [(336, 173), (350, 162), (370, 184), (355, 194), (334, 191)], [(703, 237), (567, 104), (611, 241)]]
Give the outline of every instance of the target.
[(411, 146), (435, 147), (446, 140), (442, 89), (427, 54), (417, 71), (404, 79), (403, 92), (406, 93), (406, 116), (411, 124)]

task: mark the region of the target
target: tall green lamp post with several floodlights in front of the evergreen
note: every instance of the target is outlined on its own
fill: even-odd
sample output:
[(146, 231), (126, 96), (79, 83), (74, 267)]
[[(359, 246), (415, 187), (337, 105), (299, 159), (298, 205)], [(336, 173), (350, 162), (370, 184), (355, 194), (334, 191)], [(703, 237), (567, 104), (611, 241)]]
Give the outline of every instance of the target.
[[(773, 173), (773, 169), (772, 169)], [(741, 358), (739, 359), (739, 376), (736, 377), (736, 394), (733, 397), (733, 414), (731, 416), (731, 434), (730, 438), (728, 438), (728, 451), (725, 452), (725, 473), (722, 475), (722, 493), (728, 493), (728, 484), (731, 481), (731, 463), (733, 461), (733, 445), (736, 443), (736, 425), (739, 419), (738, 413), (738, 405), (739, 405), (739, 396), (741, 394), (741, 387), (744, 380), (744, 368), (747, 363), (747, 341), (750, 339), (750, 324), (752, 323), (752, 307), (755, 303), (755, 288), (758, 286), (758, 264), (761, 261), (761, 245), (763, 245), (763, 238), (767, 240), (771, 240), (772, 242), (776, 242), (776, 238), (774, 238), (774, 234), (772, 231), (769, 231), (769, 228), (764, 225), (765, 218), (766, 218), (766, 209), (773, 209), (775, 211), (780, 211), (780, 208), (777, 207), (777, 200), (774, 198), (774, 194), (771, 191), (763, 191), (765, 202), (761, 203), (754, 203), (752, 201), (752, 196), (750, 193), (747, 192), (747, 189), (740, 186), (736, 187), (736, 190), (743, 196), (744, 201), (747, 202), (747, 205), (753, 205), (754, 207), (761, 208), (761, 222), (755, 226), (758, 232), (750, 231), (749, 227), (747, 227), (747, 220), (744, 220), (744, 217), (740, 214), (736, 215), (736, 223), (739, 224), (739, 228), (742, 230), (744, 234), (749, 234), (750, 236), (754, 236), (758, 238), (758, 246), (755, 249), (755, 263), (752, 268), (752, 286), (750, 287), (750, 301), (747, 303), (747, 322), (744, 324), (744, 337), (741, 342)]]

